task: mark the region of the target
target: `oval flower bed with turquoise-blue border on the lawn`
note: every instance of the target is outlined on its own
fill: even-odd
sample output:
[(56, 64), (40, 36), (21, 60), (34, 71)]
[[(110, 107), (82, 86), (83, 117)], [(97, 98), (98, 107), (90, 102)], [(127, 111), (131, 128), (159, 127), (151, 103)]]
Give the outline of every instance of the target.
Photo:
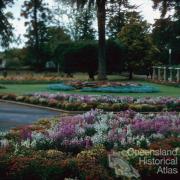
[(50, 84), (48, 89), (69, 91), (79, 89), (82, 92), (104, 92), (104, 93), (152, 93), (159, 92), (153, 86), (145, 86), (139, 83), (121, 82), (81, 82), (72, 81), (59, 84)]

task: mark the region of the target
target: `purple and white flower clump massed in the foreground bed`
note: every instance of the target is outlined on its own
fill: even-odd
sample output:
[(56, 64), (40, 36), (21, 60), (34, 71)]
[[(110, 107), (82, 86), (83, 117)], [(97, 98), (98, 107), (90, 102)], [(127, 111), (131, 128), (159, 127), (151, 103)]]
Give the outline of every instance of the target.
[[(90, 133), (91, 132), (91, 133)], [(82, 115), (63, 117), (49, 130), (49, 137), (62, 146), (90, 147), (96, 144), (120, 146), (150, 144), (156, 138), (178, 136), (180, 114), (162, 112), (140, 114), (93, 110)]]

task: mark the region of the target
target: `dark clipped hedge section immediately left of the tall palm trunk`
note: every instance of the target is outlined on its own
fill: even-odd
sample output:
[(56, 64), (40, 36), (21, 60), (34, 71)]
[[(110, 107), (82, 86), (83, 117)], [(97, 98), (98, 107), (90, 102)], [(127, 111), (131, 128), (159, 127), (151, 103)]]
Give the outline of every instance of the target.
[[(96, 43), (60, 43), (55, 55), (62, 70), (66, 73), (96, 71)], [(95, 70), (94, 70), (95, 69)]]

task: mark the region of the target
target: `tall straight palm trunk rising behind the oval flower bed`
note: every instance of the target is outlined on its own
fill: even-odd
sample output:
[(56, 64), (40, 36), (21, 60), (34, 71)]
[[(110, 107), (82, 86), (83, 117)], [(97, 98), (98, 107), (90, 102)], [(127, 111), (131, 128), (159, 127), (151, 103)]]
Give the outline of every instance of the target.
[(105, 2), (106, 0), (97, 0), (97, 21), (98, 21), (98, 79), (106, 80), (106, 58), (105, 58)]

